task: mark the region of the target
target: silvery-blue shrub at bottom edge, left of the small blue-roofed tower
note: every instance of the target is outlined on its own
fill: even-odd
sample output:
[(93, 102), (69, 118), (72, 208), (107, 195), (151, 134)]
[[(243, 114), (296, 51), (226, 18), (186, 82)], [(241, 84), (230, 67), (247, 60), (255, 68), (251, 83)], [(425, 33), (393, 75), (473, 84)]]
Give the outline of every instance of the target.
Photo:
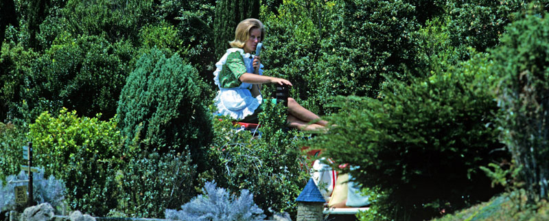
[(263, 211), (253, 202), (253, 194), (242, 189), (240, 196), (230, 196), (223, 188), (216, 188), (215, 183), (206, 183), (204, 195), (181, 206), (180, 211), (167, 209), (165, 217), (169, 220), (207, 221), (207, 220), (263, 220)]

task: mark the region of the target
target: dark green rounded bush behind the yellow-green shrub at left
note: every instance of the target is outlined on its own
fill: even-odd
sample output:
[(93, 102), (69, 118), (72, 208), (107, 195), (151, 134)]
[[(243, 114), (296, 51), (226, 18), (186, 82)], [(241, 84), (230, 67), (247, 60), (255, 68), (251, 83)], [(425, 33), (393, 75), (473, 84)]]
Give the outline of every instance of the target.
[[(19, 117), (34, 119), (42, 111), (61, 107), (86, 117), (116, 113), (117, 98), (130, 73), (134, 49), (126, 42), (110, 44), (98, 36), (59, 36), (25, 73)], [(25, 112), (28, 116), (24, 116)]]

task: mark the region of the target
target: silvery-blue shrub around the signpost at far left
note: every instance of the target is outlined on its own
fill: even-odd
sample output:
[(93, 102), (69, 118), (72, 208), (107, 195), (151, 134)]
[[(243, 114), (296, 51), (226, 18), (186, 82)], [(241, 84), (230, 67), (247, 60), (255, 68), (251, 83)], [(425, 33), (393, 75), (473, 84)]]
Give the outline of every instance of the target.
[[(28, 181), (27, 172), (21, 171), (19, 175), (10, 175), (6, 181)], [(25, 183), (0, 183), (0, 211), (16, 209), (14, 187), (24, 185)], [(48, 202), (51, 207), (60, 207), (65, 200), (65, 183), (57, 180), (53, 175), (44, 178), (44, 170), (38, 169), (38, 172), (32, 174), (32, 196), (36, 203)], [(21, 211), (23, 208), (19, 208)]]

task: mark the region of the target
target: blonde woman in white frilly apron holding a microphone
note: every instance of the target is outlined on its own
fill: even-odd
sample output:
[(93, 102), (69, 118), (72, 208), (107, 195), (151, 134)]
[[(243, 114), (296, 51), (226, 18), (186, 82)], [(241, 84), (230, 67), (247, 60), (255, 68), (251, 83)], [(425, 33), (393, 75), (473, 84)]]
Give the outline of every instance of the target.
[[(263, 109), (264, 102), (259, 89), (261, 84), (292, 83), (283, 78), (273, 78), (263, 75), (263, 65), (259, 56), (254, 56), (257, 43), (264, 39), (263, 23), (257, 19), (246, 19), (238, 23), (235, 30), (235, 40), (229, 44), (222, 58), (215, 63), (217, 69), (213, 72), (213, 80), (220, 91), (215, 97), (215, 105), (222, 115), (229, 115), (237, 120), (257, 123), (257, 114)], [(259, 75), (254, 69), (259, 68)], [(313, 124), (311, 124), (313, 123)], [(288, 126), (300, 130), (322, 130), (327, 121), (303, 108), (292, 97), (288, 97)]]

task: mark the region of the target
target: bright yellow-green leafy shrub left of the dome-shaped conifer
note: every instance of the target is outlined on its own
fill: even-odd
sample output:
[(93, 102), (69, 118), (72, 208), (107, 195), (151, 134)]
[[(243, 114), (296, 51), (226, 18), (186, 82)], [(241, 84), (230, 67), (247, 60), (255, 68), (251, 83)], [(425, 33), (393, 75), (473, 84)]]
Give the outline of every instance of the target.
[(58, 117), (41, 114), (30, 125), (34, 163), (65, 181), (71, 209), (104, 216), (117, 205), (114, 171), (124, 151), (116, 121), (77, 117), (63, 108)]

